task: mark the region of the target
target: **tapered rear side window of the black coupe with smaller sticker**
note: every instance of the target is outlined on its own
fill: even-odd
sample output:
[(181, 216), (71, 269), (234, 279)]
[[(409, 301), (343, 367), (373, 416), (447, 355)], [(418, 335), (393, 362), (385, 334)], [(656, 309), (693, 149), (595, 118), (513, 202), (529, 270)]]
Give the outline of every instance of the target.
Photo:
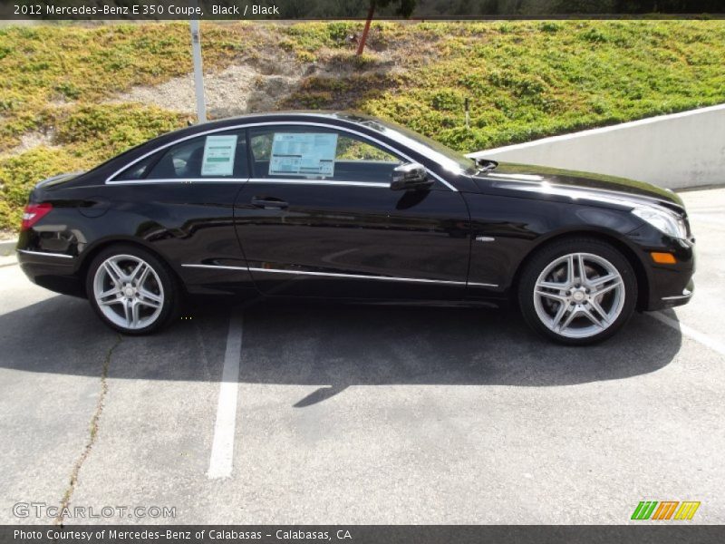
[(247, 179), (245, 131), (215, 132), (182, 141), (124, 170), (115, 180)]

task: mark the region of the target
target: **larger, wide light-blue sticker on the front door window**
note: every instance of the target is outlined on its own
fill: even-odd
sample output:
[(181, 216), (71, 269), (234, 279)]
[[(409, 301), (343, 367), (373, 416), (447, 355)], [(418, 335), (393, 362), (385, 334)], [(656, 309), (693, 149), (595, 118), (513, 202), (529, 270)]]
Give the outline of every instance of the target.
[(329, 132), (275, 132), (269, 175), (334, 175), (337, 134)]

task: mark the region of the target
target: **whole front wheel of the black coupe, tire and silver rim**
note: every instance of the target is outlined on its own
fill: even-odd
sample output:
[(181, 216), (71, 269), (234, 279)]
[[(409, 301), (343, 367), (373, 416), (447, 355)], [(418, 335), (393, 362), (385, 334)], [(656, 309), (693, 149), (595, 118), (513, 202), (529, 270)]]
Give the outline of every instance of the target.
[(528, 325), (566, 345), (594, 344), (614, 335), (632, 316), (636, 300), (629, 261), (593, 238), (562, 240), (539, 250), (518, 290)]

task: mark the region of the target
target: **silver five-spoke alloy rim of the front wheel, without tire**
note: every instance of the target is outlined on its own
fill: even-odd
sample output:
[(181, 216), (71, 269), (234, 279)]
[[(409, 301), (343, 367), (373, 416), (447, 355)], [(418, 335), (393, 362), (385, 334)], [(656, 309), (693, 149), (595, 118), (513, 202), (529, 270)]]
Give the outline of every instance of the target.
[(622, 313), (624, 282), (604, 257), (570, 253), (556, 258), (536, 278), (536, 315), (549, 330), (587, 338), (609, 328)]

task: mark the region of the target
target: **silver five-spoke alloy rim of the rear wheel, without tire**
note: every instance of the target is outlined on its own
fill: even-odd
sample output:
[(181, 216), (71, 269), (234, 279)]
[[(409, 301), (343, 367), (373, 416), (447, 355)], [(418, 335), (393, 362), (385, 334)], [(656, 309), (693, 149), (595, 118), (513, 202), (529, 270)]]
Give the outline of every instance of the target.
[(159, 275), (132, 255), (114, 255), (102, 262), (93, 277), (93, 296), (104, 316), (130, 330), (153, 324), (164, 306)]

